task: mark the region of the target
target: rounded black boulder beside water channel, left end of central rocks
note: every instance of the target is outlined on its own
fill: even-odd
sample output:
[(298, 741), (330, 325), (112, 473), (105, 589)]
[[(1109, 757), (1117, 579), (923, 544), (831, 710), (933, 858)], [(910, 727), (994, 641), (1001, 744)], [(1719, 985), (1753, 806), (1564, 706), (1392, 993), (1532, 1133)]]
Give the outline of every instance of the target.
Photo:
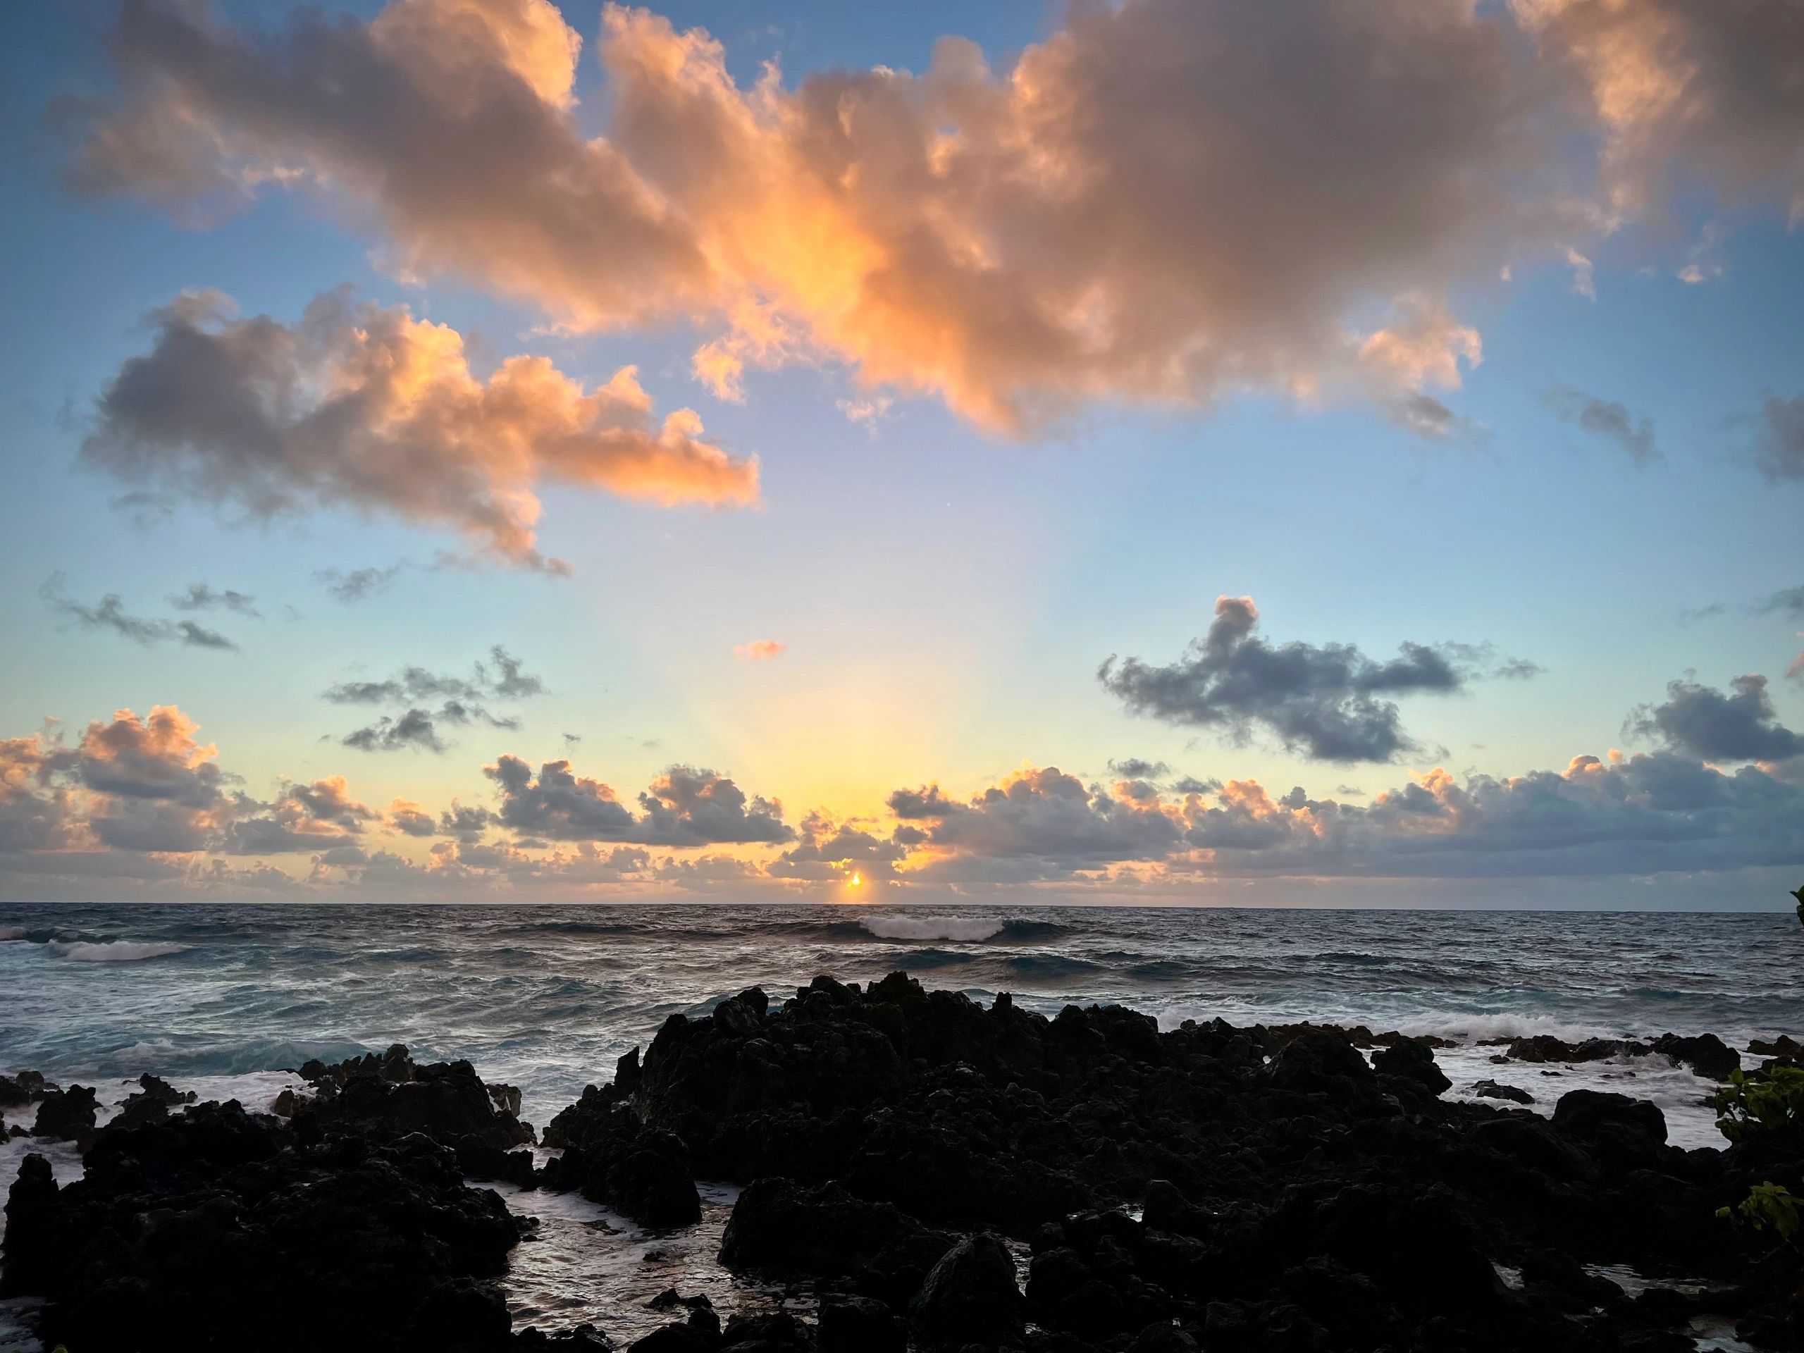
[(545, 1165), (548, 1189), (577, 1189), (648, 1227), (702, 1220), (689, 1147), (675, 1133), (649, 1128), (613, 1086), (586, 1086), (545, 1126), (545, 1142), (565, 1149)]

